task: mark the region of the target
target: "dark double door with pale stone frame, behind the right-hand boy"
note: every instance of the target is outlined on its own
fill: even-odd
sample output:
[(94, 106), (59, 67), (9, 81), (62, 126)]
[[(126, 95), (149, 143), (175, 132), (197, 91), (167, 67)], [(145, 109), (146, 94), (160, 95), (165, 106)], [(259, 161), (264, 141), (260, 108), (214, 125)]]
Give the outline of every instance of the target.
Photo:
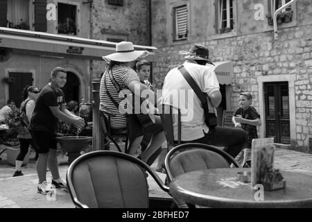
[(290, 144), (288, 82), (264, 84), (266, 105), (266, 137), (276, 143)]

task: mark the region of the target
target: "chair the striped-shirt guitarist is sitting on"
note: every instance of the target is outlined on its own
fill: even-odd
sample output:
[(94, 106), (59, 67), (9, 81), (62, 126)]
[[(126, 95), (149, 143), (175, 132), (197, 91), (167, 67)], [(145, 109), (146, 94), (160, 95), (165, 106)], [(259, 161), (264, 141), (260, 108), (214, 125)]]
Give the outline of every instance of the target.
[[(108, 119), (107, 117), (105, 117), (105, 114), (107, 114)], [(100, 111), (100, 121), (101, 121), (101, 126), (103, 129), (103, 133), (107, 135), (107, 137), (116, 146), (119, 152), (122, 152), (122, 151), (121, 151), (119, 144), (116, 142), (116, 139), (114, 139), (114, 137), (125, 138), (125, 153), (129, 153), (129, 148), (131, 144), (128, 144), (129, 143), (128, 129), (127, 128), (114, 129), (110, 127), (110, 117), (115, 117), (115, 116), (116, 114), (112, 112)]]

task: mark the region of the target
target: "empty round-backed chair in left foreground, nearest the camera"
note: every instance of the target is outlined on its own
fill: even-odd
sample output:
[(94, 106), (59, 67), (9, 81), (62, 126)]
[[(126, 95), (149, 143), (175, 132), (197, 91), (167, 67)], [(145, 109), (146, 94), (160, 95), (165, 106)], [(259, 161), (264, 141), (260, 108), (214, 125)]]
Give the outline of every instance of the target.
[(94, 151), (78, 157), (67, 171), (67, 186), (78, 208), (146, 208), (146, 171), (168, 193), (168, 187), (145, 162), (116, 151)]

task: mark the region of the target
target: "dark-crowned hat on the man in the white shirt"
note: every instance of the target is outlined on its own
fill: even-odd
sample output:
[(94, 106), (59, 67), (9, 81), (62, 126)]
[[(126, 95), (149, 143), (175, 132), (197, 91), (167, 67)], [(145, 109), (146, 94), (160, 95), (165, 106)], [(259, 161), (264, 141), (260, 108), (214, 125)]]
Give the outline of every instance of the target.
[(180, 55), (189, 60), (206, 60), (207, 63), (214, 65), (209, 58), (209, 50), (200, 44), (195, 44), (189, 51), (181, 50)]

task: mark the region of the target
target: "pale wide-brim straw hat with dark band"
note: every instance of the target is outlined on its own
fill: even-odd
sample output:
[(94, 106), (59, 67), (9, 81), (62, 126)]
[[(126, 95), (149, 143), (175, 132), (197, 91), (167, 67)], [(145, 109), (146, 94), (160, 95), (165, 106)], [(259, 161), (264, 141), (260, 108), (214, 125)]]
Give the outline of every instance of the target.
[(116, 53), (108, 56), (103, 56), (103, 60), (110, 62), (111, 60), (117, 62), (131, 62), (138, 58), (148, 56), (148, 51), (137, 51), (132, 42), (119, 42), (116, 44)]

